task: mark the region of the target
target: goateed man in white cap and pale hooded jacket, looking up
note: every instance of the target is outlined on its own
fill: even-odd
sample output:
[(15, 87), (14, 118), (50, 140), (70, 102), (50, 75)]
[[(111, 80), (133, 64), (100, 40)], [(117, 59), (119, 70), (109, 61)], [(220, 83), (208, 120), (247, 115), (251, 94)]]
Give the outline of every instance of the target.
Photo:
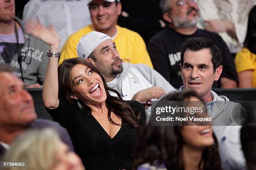
[(120, 92), (124, 100), (144, 102), (145, 108), (151, 105), (151, 99), (175, 90), (147, 65), (122, 63), (115, 42), (102, 32), (93, 31), (83, 36), (77, 46), (77, 54), (91, 62), (108, 86)]

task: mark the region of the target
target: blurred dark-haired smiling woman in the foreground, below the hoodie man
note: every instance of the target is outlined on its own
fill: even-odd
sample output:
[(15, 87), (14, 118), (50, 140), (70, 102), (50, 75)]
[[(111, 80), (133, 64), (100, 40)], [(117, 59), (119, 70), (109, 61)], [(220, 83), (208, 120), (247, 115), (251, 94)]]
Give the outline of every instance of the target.
[[(161, 101), (201, 101), (193, 91)], [(202, 102), (203, 105), (204, 102)], [(142, 130), (134, 152), (137, 170), (221, 170), (218, 141), (211, 126), (152, 126)]]

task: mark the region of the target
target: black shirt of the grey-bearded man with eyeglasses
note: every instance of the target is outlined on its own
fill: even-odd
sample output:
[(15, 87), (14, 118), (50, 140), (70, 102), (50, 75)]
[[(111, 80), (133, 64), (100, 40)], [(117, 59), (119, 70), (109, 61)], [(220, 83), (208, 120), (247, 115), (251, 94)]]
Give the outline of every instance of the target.
[[(238, 82), (233, 57), (222, 38), (206, 30), (197, 29), (192, 35), (183, 35), (172, 28), (165, 28), (148, 42), (147, 50), (151, 57), (154, 69), (158, 71), (175, 88), (183, 85), (180, 72), (180, 47), (191, 37), (205, 37), (212, 40), (222, 53), (223, 71), (220, 77), (227, 77)], [(220, 80), (215, 81), (212, 87), (220, 87)]]

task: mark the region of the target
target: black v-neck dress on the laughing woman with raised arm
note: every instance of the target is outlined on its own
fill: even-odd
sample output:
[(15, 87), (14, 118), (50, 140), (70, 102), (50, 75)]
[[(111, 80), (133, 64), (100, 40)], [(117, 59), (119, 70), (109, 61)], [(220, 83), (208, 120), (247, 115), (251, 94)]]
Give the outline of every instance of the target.
[[(133, 110), (141, 112), (141, 124), (146, 113), (140, 102), (127, 101)], [(118, 133), (111, 139), (89, 110), (69, 105), (60, 99), (59, 107), (47, 109), (53, 119), (67, 128), (75, 152), (86, 170), (129, 170), (138, 133), (122, 120)]]

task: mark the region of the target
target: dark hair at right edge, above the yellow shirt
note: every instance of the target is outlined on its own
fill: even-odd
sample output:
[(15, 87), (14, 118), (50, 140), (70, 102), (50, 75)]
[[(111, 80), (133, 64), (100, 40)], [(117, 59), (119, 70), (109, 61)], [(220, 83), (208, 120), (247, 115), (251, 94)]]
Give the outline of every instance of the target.
[(254, 6), (248, 17), (248, 27), (246, 39), (243, 45), (248, 48), (252, 53), (256, 54), (256, 6)]

